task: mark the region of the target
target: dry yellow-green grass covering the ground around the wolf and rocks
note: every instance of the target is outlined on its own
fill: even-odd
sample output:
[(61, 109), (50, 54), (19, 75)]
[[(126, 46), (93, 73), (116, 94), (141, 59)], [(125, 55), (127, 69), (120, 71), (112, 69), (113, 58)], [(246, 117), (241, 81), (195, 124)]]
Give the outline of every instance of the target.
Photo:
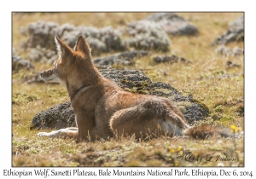
[[(26, 59), (26, 50), (20, 49), (20, 26), (38, 20), (70, 23), (75, 26), (123, 26), (125, 22), (141, 20), (150, 13), (33, 13), (13, 14), (13, 47)], [(171, 84), (184, 95), (193, 95), (210, 109), (207, 123), (224, 127), (244, 128), (243, 56), (221, 56), (214, 52), (212, 41), (226, 32), (228, 23), (241, 13), (177, 13), (200, 30), (197, 37), (170, 37), (171, 53), (182, 56), (192, 64), (154, 64), (149, 57), (135, 61), (127, 69), (140, 69), (153, 81)], [(243, 43), (230, 43), (243, 48)], [(152, 52), (154, 55), (166, 55)], [(232, 61), (240, 68), (226, 68)], [(122, 136), (107, 141), (75, 143), (68, 139), (38, 138), (37, 130), (29, 130), (32, 117), (49, 107), (68, 101), (66, 89), (59, 84), (26, 84), (33, 72), (41, 72), (48, 64), (33, 62), (35, 69), (13, 72), (12, 95), (12, 165), (13, 166), (244, 166), (244, 141), (187, 138), (168, 138), (136, 141)], [(232, 78), (222, 75), (240, 74)], [(50, 130), (49, 130), (50, 131)], [(235, 161), (206, 161), (212, 155)], [(201, 159), (201, 160), (200, 160)], [(188, 161), (189, 160), (189, 161)], [(201, 162), (200, 162), (201, 161)]]

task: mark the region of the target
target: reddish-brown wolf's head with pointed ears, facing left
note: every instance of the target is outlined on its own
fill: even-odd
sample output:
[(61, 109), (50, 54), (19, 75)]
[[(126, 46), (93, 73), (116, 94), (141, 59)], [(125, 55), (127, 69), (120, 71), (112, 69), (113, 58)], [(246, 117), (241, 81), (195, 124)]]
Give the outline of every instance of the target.
[(57, 36), (55, 36), (55, 43), (58, 59), (54, 62), (54, 67), (40, 73), (41, 78), (46, 83), (61, 83), (66, 87), (73, 82), (82, 85), (79, 76), (86, 75), (86, 68), (93, 66), (89, 44), (81, 35), (77, 39), (74, 49), (71, 49)]

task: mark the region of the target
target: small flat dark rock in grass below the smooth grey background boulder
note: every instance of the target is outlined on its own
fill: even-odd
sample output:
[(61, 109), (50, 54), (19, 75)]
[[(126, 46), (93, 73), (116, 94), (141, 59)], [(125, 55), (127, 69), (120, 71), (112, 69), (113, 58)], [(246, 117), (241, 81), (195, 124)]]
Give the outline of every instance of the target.
[(164, 56), (158, 56), (158, 55), (155, 55), (153, 57), (153, 61), (156, 62), (156, 63), (177, 63), (178, 61), (182, 61), (183, 63), (192, 63), (191, 61), (183, 58), (183, 57), (180, 57), (180, 56), (177, 56), (177, 55), (164, 55)]

